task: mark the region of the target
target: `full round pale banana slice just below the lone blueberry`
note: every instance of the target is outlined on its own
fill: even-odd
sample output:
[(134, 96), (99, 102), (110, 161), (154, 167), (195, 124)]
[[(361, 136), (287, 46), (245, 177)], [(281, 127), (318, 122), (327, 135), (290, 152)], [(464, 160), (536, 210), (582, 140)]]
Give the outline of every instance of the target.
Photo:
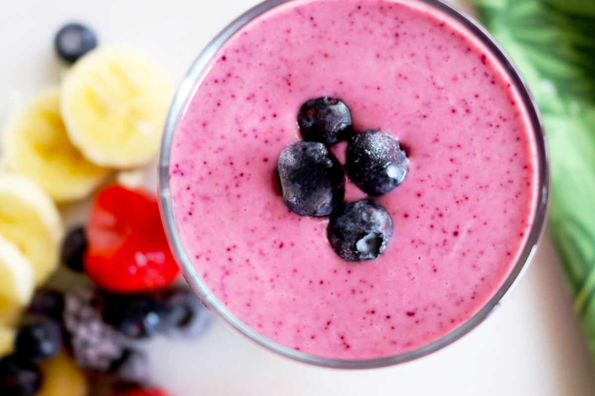
[(70, 141), (101, 166), (148, 163), (171, 103), (168, 76), (130, 49), (103, 47), (83, 56), (62, 82), (60, 109)]

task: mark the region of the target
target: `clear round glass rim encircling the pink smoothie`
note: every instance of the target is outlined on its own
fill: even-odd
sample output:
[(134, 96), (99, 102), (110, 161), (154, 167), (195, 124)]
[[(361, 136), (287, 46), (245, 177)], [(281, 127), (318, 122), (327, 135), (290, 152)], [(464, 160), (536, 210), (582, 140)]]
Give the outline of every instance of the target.
[(443, 347), (448, 346), (483, 322), (483, 320), (486, 319), (487, 316), (490, 315), (490, 313), (493, 312), (494, 309), (496, 309), (496, 307), (499, 306), (506, 297), (508, 297), (513, 287), (516, 286), (522, 275), (527, 270), (529, 263), (533, 259), (545, 229), (550, 197), (549, 150), (547, 147), (547, 137), (544, 132), (541, 113), (537, 107), (537, 103), (534, 100), (533, 95), (528, 88), (527, 83), (519, 72), (517, 66), (514, 64), (511, 57), (508, 55), (508, 53), (506, 53), (503, 47), (496, 41), (496, 39), (494, 39), (494, 37), (488, 33), (485, 27), (483, 27), (478, 21), (470, 17), (455, 5), (449, 4), (443, 0), (418, 0), (438, 9), (441, 12), (444, 12), (445, 14), (449, 15), (449, 17), (454, 18), (471, 34), (473, 34), (475, 38), (479, 39), (483, 45), (485, 45), (487, 49), (490, 50), (497, 61), (500, 62), (500, 65), (506, 69), (506, 72), (511, 78), (512, 83), (518, 90), (519, 96), (521, 97), (522, 102), (527, 109), (528, 117), (534, 131), (538, 157), (539, 169), (536, 194), (537, 203), (531, 232), (527, 237), (525, 247), (519, 256), (518, 261), (512, 268), (502, 286), (500, 286), (500, 288), (488, 300), (488, 302), (478, 312), (471, 316), (471, 318), (467, 319), (465, 322), (459, 325), (459, 327), (455, 328), (455, 330), (443, 335), (443, 337), (440, 337), (430, 344), (426, 344), (417, 349), (393, 356), (364, 360), (329, 359), (283, 346), (271, 340), (270, 338), (259, 334), (259, 332), (237, 318), (233, 312), (231, 312), (223, 303), (221, 303), (217, 296), (215, 296), (215, 294), (212, 292), (211, 288), (202, 279), (201, 275), (199, 275), (198, 271), (194, 268), (192, 261), (187, 255), (184, 244), (176, 227), (169, 186), (169, 159), (171, 142), (179, 117), (184, 112), (187, 100), (190, 98), (193, 90), (195, 89), (196, 81), (198, 81), (198, 78), (201, 77), (203, 70), (206, 68), (206, 66), (208, 66), (209, 62), (215, 56), (221, 46), (223, 46), (227, 40), (236, 33), (236, 31), (240, 30), (240, 28), (248, 24), (254, 18), (259, 17), (259, 15), (269, 11), (274, 7), (277, 7), (278, 5), (291, 1), (295, 0), (265, 0), (255, 5), (255, 7), (250, 8), (244, 14), (240, 15), (240, 17), (236, 18), (236, 20), (221, 30), (221, 32), (215, 36), (215, 38), (205, 47), (205, 49), (203, 49), (198, 58), (196, 58), (195, 62), (190, 67), (189, 72), (187, 72), (186, 76), (181, 81), (171, 105), (167, 121), (165, 122), (164, 135), (161, 142), (158, 161), (159, 208), (161, 210), (161, 217), (165, 226), (165, 233), (167, 234), (173, 254), (176, 256), (177, 262), (181, 267), (184, 278), (186, 278), (186, 281), (189, 283), (193, 291), (198, 294), (202, 302), (234, 330), (240, 332), (241, 334), (250, 338), (250, 340), (255, 341), (268, 350), (274, 351), (278, 354), (290, 357), (300, 362), (309, 363), (311, 365), (339, 369), (381, 368), (418, 359), (419, 357), (426, 356), (427, 354), (433, 353), (442, 349)]

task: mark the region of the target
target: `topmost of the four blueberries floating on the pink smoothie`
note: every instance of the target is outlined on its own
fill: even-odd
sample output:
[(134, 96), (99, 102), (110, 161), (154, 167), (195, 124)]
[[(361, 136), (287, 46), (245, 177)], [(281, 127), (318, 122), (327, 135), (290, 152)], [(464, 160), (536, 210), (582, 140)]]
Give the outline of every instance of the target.
[(326, 145), (347, 140), (353, 133), (349, 107), (327, 96), (304, 103), (297, 115), (297, 125), (305, 140)]

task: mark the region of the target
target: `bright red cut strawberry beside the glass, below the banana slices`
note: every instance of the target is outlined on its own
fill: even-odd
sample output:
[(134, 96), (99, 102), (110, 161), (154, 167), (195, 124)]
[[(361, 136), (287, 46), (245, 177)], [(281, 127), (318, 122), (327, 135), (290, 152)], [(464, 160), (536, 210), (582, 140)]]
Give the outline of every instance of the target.
[(118, 293), (167, 286), (179, 269), (171, 254), (155, 196), (112, 185), (93, 201), (87, 224), (84, 271)]

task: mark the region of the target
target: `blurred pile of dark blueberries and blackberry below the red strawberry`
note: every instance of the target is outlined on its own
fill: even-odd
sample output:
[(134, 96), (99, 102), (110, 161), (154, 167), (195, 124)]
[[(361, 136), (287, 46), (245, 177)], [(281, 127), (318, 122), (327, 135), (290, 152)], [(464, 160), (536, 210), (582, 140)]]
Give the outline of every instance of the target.
[(43, 381), (39, 364), (64, 348), (79, 368), (136, 387), (149, 375), (143, 341), (156, 334), (198, 337), (211, 321), (211, 313), (187, 287), (125, 295), (95, 287), (65, 294), (39, 290), (15, 338), (14, 352), (0, 359), (2, 395), (35, 395)]

